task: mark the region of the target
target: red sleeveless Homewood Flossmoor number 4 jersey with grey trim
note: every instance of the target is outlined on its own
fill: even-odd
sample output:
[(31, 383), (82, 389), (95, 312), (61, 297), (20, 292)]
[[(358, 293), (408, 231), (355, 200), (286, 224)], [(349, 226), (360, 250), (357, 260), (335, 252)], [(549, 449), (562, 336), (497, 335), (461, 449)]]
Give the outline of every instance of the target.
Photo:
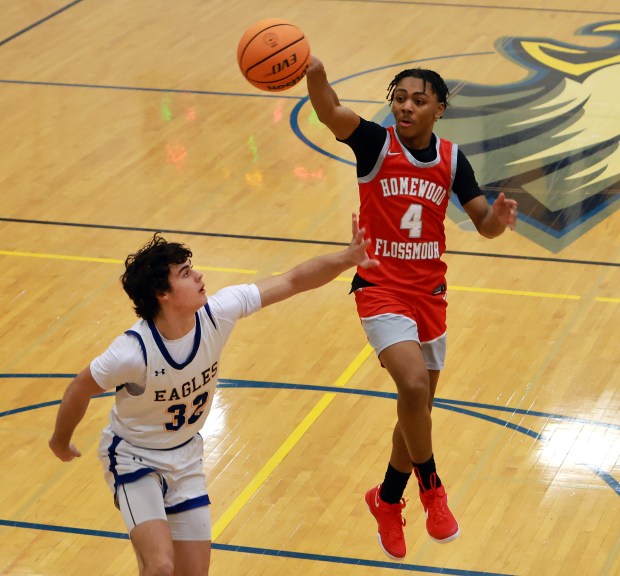
[(358, 178), (360, 227), (372, 243), (368, 254), (381, 266), (358, 269), (364, 280), (414, 292), (433, 293), (445, 283), (444, 219), (456, 173), (457, 145), (437, 137), (437, 157), (418, 162), (394, 126), (377, 163)]

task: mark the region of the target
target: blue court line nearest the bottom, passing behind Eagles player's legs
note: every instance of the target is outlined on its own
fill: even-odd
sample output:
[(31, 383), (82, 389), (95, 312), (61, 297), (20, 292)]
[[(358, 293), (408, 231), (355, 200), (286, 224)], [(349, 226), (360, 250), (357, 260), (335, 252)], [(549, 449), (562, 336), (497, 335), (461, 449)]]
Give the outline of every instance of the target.
[[(90, 530), (88, 528), (72, 528), (70, 526), (54, 526), (51, 524), (35, 524), (32, 522), (16, 522), (14, 520), (0, 519), (0, 526), (11, 528), (27, 528), (30, 530), (44, 530), (50, 532), (64, 532), (68, 534), (80, 534), (83, 536), (98, 536), (103, 538), (117, 538), (129, 540), (129, 536), (123, 532), (108, 532), (104, 530)], [(241, 552), (244, 554), (257, 554), (259, 556), (275, 556), (279, 558), (293, 558), (297, 560), (312, 560), (315, 562), (331, 562), (333, 564), (350, 564), (353, 566), (366, 566), (370, 568), (383, 568), (388, 570), (401, 570), (404, 572), (425, 572), (427, 574), (449, 574), (451, 576), (510, 576), (499, 572), (480, 572), (479, 570), (463, 570), (458, 568), (438, 568), (436, 566), (423, 566), (419, 564), (405, 564), (396, 562), (383, 562), (377, 560), (365, 560), (363, 558), (349, 558), (347, 556), (331, 556), (327, 554), (310, 554), (307, 552), (292, 552), (290, 550), (274, 550), (272, 548), (255, 548), (254, 546), (235, 546), (234, 544), (218, 544), (213, 542), (214, 550), (226, 552)]]

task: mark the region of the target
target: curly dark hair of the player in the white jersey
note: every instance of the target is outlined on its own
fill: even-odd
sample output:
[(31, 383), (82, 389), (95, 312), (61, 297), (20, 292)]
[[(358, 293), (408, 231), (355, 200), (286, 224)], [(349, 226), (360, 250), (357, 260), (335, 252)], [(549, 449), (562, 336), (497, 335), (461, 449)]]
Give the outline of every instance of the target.
[(192, 251), (187, 246), (168, 242), (159, 233), (135, 254), (127, 256), (121, 282), (138, 316), (145, 320), (155, 318), (159, 312), (157, 295), (170, 290), (170, 266), (183, 264), (191, 257)]

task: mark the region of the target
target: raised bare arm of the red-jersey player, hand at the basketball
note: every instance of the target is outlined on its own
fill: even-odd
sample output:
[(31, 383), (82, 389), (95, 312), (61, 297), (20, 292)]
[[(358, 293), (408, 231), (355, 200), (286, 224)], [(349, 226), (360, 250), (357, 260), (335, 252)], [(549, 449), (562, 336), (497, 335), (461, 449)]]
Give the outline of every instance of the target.
[(346, 140), (360, 123), (360, 117), (346, 106), (340, 104), (338, 95), (327, 81), (323, 63), (316, 57), (310, 58), (306, 70), (308, 96), (319, 120), (325, 124), (339, 140)]

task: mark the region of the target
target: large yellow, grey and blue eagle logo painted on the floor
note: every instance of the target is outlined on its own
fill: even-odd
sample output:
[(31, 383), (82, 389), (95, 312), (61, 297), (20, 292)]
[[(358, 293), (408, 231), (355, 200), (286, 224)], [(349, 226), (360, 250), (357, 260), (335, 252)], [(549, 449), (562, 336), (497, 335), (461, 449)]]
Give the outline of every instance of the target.
[[(525, 235), (553, 252), (620, 199), (620, 22), (580, 33), (612, 42), (583, 48), (500, 39), (498, 50), (527, 67), (528, 77), (499, 86), (448, 82), (449, 107), (436, 125), (440, 136), (459, 143), (485, 193), (493, 199), (504, 190), (517, 199)], [(456, 221), (458, 211), (453, 205)]]

